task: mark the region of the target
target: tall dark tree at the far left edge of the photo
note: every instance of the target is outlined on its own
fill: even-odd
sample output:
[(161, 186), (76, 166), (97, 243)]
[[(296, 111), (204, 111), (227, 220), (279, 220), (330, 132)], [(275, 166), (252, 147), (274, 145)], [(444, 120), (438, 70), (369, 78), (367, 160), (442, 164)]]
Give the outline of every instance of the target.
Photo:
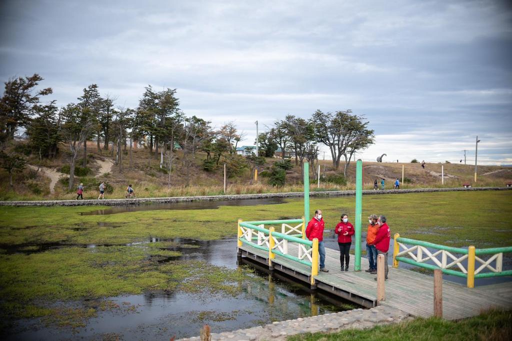
[(34, 74), (9, 79), (4, 83), (4, 95), (0, 98), (0, 143), (14, 139), (16, 129), (29, 123), (32, 108), (39, 103), (39, 96), (52, 93), (52, 88), (48, 87), (33, 94), (41, 80), (41, 76)]

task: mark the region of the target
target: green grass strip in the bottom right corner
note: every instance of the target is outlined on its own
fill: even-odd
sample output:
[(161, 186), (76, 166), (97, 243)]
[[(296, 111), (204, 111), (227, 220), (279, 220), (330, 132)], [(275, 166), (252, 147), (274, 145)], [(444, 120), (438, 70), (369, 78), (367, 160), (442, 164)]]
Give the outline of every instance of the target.
[(289, 341), (314, 340), (510, 340), (512, 311), (492, 310), (458, 322), (431, 317), (371, 329), (348, 329), (337, 333), (308, 333), (290, 336)]

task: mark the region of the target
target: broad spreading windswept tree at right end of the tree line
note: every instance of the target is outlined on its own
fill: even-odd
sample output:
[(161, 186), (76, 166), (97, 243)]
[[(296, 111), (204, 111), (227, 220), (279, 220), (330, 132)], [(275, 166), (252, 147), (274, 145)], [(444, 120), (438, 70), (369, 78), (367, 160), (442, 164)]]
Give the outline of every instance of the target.
[(314, 123), (318, 142), (325, 144), (331, 151), (334, 169), (338, 169), (342, 155), (350, 162), (354, 152), (373, 143), (373, 130), (367, 128), (368, 122), (364, 122), (362, 116), (352, 115), (350, 109), (335, 113), (316, 110), (311, 122)]

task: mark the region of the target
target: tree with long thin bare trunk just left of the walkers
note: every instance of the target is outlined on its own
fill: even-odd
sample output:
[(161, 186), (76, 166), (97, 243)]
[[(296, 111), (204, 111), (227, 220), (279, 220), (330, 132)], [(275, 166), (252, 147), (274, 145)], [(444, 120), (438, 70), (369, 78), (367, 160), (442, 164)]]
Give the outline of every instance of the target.
[(80, 105), (70, 103), (62, 108), (59, 113), (59, 120), (62, 123), (61, 135), (70, 149), (70, 172), (68, 189), (73, 188), (75, 180), (75, 164), (83, 143), (96, 131), (96, 124), (93, 122), (87, 111), (82, 110)]

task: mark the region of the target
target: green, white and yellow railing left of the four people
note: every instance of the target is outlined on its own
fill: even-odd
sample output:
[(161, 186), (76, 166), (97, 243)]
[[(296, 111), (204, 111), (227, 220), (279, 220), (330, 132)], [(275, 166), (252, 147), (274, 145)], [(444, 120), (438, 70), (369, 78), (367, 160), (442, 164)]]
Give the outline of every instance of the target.
[[(298, 224), (292, 226), (290, 224)], [(276, 232), (274, 226), (281, 225), (282, 232)], [(298, 229), (301, 230), (298, 230)], [(243, 244), (268, 252), (269, 266), (272, 260), (280, 256), (311, 267), (311, 284), (318, 275), (318, 240), (305, 237), (304, 218), (284, 220), (238, 221), (238, 246)], [(297, 256), (288, 252), (288, 242), (298, 246)]]

